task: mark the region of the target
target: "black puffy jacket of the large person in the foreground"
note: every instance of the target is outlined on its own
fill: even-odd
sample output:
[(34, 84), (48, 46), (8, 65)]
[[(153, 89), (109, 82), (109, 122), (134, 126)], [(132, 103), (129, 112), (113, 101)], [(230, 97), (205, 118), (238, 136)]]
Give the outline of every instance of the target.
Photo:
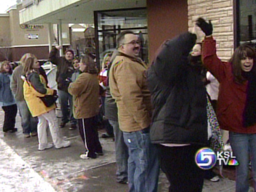
[(195, 42), (189, 32), (167, 40), (148, 69), (152, 143), (207, 144), (206, 88), (201, 70), (188, 64)]

